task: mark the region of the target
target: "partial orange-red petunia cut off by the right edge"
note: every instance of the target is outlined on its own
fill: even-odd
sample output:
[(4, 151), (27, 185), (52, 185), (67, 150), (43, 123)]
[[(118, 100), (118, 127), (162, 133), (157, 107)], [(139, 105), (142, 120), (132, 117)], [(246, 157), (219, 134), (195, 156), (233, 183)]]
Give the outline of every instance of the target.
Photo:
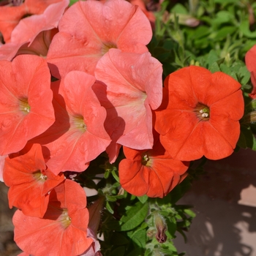
[(245, 55), (245, 64), (249, 72), (251, 72), (252, 92), (249, 94), (252, 99), (256, 99), (256, 45), (247, 51)]

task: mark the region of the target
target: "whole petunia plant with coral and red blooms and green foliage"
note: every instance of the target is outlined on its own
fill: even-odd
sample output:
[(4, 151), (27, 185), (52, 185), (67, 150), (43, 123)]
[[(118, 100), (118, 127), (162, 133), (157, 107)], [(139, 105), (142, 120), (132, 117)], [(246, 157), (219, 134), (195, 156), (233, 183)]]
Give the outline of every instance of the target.
[(184, 255), (195, 213), (178, 200), (208, 159), (256, 150), (256, 4), (182, 2), (1, 2), (20, 255)]

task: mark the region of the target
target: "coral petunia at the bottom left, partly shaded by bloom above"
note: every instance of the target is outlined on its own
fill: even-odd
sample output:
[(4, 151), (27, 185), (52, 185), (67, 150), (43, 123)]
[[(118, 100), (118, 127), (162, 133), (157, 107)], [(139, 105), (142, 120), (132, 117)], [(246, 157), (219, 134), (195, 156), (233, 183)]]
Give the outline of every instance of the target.
[(87, 233), (86, 193), (75, 181), (65, 180), (50, 192), (43, 218), (28, 217), (18, 210), (12, 221), (14, 240), (29, 255), (76, 256), (93, 242)]

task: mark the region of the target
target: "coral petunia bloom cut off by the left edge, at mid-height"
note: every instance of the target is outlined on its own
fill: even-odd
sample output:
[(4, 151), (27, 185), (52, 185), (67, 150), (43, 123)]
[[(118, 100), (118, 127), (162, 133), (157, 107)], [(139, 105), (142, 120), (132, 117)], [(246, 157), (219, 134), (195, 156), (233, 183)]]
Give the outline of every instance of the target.
[(45, 59), (0, 61), (0, 155), (20, 151), (55, 121), (50, 71)]

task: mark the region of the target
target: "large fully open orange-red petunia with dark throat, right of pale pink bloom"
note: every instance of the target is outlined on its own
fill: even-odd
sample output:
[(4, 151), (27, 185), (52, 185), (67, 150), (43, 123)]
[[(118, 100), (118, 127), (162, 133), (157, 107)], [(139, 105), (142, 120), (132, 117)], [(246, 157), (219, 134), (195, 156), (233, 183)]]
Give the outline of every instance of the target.
[(155, 129), (171, 157), (222, 159), (233, 153), (244, 114), (241, 85), (223, 72), (185, 67), (168, 75)]

